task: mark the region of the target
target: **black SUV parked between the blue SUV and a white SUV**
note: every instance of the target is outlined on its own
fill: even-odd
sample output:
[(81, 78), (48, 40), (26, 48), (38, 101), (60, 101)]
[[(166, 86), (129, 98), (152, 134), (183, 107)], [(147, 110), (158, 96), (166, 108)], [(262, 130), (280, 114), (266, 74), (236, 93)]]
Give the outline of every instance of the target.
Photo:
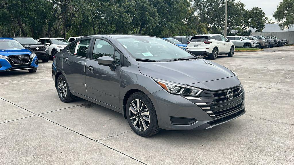
[(21, 43), (26, 49), (31, 50), (38, 57), (38, 60), (47, 63), (49, 61), (49, 50), (48, 46), (39, 43), (37, 40), (31, 37), (11, 37)]

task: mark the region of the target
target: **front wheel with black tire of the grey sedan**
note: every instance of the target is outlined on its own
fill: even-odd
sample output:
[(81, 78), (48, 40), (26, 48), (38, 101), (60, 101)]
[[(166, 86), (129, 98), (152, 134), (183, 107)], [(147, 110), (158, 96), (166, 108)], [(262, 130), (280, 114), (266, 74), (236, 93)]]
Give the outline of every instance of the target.
[[(135, 113), (133, 113), (133, 111), (130, 110), (130, 109), (132, 109), (131, 103), (135, 102), (134, 105), (137, 105), (136, 101), (138, 101), (138, 100), (143, 102), (144, 105), (143, 105), (143, 103), (141, 103), (141, 105), (139, 104), (139, 107), (141, 107), (141, 108), (143, 107), (142, 109), (141, 108), (139, 108), (139, 109), (133, 108), (133, 111), (136, 112), (136, 114), (135, 114)], [(133, 107), (133, 105), (132, 105), (132, 107)], [(148, 115), (146, 115), (147, 112), (148, 112)], [(132, 120), (131, 120), (131, 115), (133, 116)], [(129, 123), (130, 127), (132, 128), (132, 130), (136, 134), (138, 134), (142, 137), (153, 136), (161, 130), (158, 127), (157, 115), (156, 115), (154, 105), (153, 105), (152, 101), (150, 100), (150, 98), (143, 92), (135, 92), (128, 98), (127, 105), (126, 105), (126, 116), (127, 116), (128, 123)], [(146, 120), (146, 119), (148, 119), (148, 117), (149, 117), (149, 122), (148, 122), (148, 120)], [(148, 124), (146, 129), (143, 126), (143, 124), (141, 124), (141, 121), (144, 122), (145, 127)], [(133, 124), (133, 123), (135, 123), (135, 124)], [(140, 126), (140, 128), (138, 125)], [(143, 127), (142, 129), (141, 129), (141, 126)], [(139, 130), (139, 129), (141, 129), (141, 130)]]

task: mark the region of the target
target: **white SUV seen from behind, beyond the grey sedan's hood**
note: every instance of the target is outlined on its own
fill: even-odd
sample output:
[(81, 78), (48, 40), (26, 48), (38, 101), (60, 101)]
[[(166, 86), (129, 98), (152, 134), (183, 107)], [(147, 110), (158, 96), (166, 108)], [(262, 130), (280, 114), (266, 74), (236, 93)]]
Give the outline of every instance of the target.
[(214, 60), (221, 54), (233, 57), (235, 46), (220, 34), (207, 34), (193, 36), (186, 50), (194, 55), (209, 56)]

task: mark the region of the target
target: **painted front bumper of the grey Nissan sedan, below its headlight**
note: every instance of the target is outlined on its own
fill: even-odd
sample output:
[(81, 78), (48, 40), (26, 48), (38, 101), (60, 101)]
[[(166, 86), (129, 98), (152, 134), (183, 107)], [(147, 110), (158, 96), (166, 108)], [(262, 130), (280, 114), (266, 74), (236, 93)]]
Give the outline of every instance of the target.
[[(154, 99), (152, 102), (156, 108), (159, 127), (167, 130), (208, 129), (245, 114), (244, 101), (240, 108), (221, 117), (214, 117), (209, 115), (211, 112), (204, 111), (194, 103), (202, 100), (191, 100), (180, 95), (172, 95), (166, 90), (153, 92), (149, 94), (149, 97)], [(190, 122), (179, 124), (175, 123), (172, 118), (178, 119), (177, 121), (190, 119)]]

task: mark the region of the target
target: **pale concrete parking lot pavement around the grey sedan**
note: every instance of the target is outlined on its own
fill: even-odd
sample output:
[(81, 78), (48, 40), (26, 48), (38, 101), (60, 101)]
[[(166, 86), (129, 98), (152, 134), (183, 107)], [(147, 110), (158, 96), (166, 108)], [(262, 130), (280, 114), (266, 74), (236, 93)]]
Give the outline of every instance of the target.
[[(0, 164), (293, 164), (294, 46), (235, 52), (246, 114), (206, 130), (144, 138), (115, 111), (60, 101), (52, 61), (0, 73)], [(192, 68), (191, 68), (192, 69)]]

